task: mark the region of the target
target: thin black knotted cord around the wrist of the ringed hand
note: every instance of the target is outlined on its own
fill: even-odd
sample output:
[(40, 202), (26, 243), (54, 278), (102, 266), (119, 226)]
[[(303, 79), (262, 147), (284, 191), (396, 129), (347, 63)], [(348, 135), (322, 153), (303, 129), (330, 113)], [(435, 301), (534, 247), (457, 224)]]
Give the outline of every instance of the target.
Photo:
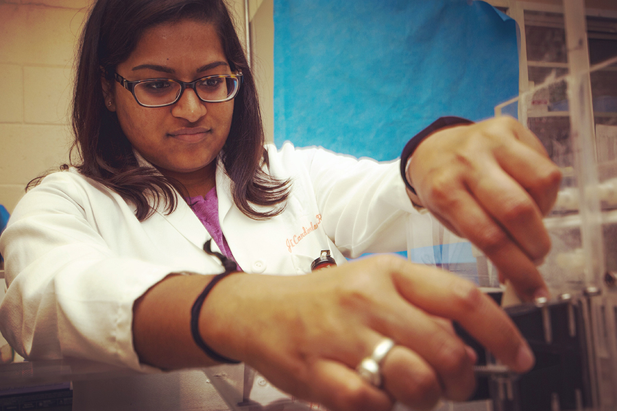
[(193, 308), (191, 308), (191, 334), (193, 334), (193, 340), (195, 340), (195, 344), (197, 344), (197, 346), (201, 348), (208, 357), (212, 358), (217, 362), (239, 364), (240, 361), (232, 360), (231, 358), (221, 356), (221, 354), (211, 349), (210, 346), (207, 345), (202, 338), (202, 335), (199, 334), (199, 314), (202, 312), (202, 306), (204, 305), (204, 301), (206, 301), (206, 297), (208, 297), (208, 294), (214, 288), (214, 286), (217, 285), (217, 282), (221, 281), (221, 279), (227, 277), (231, 273), (238, 271), (236, 262), (234, 262), (234, 260), (232, 260), (231, 258), (227, 258), (226, 256), (223, 256), (223, 254), (217, 253), (216, 251), (212, 251), (212, 249), (210, 249), (210, 242), (212, 242), (211, 239), (206, 241), (206, 244), (204, 244), (204, 251), (210, 254), (210, 256), (215, 256), (219, 260), (221, 260), (221, 264), (223, 264), (225, 271), (223, 273), (215, 275), (215, 277), (208, 283), (206, 288), (204, 288), (202, 293), (199, 294), (199, 297), (197, 297), (195, 303), (193, 303)]

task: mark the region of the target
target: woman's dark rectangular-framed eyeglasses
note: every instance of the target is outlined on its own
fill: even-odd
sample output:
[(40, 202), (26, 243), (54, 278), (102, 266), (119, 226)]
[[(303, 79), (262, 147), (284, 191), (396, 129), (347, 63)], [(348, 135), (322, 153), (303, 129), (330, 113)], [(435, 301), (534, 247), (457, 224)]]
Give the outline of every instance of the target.
[(186, 88), (192, 88), (199, 100), (204, 103), (223, 103), (238, 94), (242, 84), (242, 73), (208, 75), (194, 82), (185, 83), (174, 79), (145, 79), (130, 82), (118, 73), (114, 78), (143, 107), (165, 107), (175, 104)]

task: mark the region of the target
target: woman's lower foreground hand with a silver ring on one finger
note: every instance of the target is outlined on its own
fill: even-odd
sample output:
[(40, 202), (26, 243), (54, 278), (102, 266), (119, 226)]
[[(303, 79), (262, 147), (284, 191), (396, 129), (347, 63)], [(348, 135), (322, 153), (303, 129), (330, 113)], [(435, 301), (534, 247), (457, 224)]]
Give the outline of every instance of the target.
[[(330, 410), (427, 409), (465, 400), (476, 356), (457, 321), (494, 356), (524, 372), (533, 354), (516, 326), (471, 282), (396, 256), (376, 256), (299, 277), (231, 275), (202, 309), (204, 339), (269, 382)], [(383, 388), (356, 373), (384, 337), (396, 346)]]

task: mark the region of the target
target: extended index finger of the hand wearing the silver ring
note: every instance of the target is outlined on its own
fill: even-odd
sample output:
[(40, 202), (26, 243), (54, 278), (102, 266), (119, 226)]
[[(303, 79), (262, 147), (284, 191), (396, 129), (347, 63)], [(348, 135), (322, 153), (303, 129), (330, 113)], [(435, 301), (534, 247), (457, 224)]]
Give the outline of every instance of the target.
[[(431, 270), (427, 275), (426, 270)], [(426, 312), (457, 321), (516, 372), (529, 371), (533, 354), (516, 325), (471, 282), (441, 270), (404, 266), (394, 275), (400, 294)]]

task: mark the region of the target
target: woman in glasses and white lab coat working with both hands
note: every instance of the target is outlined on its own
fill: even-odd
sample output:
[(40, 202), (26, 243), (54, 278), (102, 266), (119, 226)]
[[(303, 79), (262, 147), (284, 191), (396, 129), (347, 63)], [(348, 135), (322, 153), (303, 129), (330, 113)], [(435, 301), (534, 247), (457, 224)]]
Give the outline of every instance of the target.
[[(522, 297), (546, 295), (534, 262), (559, 171), (516, 121), (437, 123), (411, 140), (403, 178), (399, 163), (263, 149), (220, 0), (97, 1), (74, 97), (81, 162), (29, 190), (1, 238), (1, 331), (23, 356), (143, 371), (242, 361), (332, 410), (468, 397), (475, 355), (450, 320), (515, 371), (532, 366), (463, 279), (391, 256), (343, 264), (404, 249), (424, 206)], [(322, 250), (340, 266), (298, 276)]]

